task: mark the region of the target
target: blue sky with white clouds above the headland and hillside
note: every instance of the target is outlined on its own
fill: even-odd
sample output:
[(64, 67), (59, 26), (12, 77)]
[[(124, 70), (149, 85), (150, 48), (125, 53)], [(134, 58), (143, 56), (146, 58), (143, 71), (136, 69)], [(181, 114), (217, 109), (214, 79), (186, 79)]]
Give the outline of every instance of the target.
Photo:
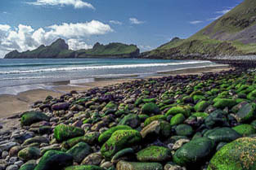
[(71, 50), (96, 42), (152, 50), (186, 38), (243, 0), (1, 0), (0, 58), (64, 38)]

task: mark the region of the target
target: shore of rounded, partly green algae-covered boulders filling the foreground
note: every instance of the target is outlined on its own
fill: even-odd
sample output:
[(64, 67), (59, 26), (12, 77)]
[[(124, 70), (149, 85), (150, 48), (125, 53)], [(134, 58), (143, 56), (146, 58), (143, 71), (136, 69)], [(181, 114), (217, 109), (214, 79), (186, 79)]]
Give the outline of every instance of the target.
[(48, 96), (1, 130), (0, 169), (255, 169), (255, 76), (236, 69)]

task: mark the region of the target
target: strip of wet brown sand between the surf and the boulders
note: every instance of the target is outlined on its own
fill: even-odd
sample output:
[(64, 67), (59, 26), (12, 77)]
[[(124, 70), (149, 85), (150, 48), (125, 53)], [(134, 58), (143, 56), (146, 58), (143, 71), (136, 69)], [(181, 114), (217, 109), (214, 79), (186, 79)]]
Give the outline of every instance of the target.
[(222, 72), (230, 70), (230, 66), (214, 66), (205, 68), (185, 68), (174, 71), (158, 72), (156, 75), (137, 77), (137, 76), (123, 76), (118, 78), (96, 78), (92, 82), (78, 83), (69, 85), (70, 81), (52, 82), (51, 89), (30, 89), (24, 92), (13, 94), (0, 94), (0, 119), (6, 119), (10, 116), (16, 116), (21, 112), (28, 111), (31, 104), (37, 101), (43, 101), (48, 95), (54, 98), (60, 97), (62, 94), (70, 93), (75, 90), (83, 92), (94, 87), (104, 87), (109, 85), (116, 85), (124, 82), (130, 82), (137, 79), (159, 78), (163, 76), (176, 75), (191, 75), (203, 74), (205, 72)]

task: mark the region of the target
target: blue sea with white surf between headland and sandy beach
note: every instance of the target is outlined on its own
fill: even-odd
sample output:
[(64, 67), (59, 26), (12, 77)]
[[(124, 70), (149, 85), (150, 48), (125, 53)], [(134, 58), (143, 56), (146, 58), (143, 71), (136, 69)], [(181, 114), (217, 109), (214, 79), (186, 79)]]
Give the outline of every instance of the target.
[[(159, 72), (217, 65), (210, 61), (171, 59), (0, 59), (0, 94), (51, 88), (49, 83), (69, 85), (97, 78), (154, 76)], [(13, 91), (14, 88), (17, 87)]]

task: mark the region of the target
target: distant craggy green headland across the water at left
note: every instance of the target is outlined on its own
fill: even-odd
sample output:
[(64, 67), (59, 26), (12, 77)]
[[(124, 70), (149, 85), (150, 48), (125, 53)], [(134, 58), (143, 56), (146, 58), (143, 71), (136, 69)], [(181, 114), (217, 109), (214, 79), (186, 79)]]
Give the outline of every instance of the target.
[(6, 54), (5, 59), (61, 59), (61, 58), (91, 58), (91, 57), (119, 57), (134, 58), (140, 54), (140, 50), (134, 45), (125, 45), (122, 43), (110, 43), (101, 45), (96, 43), (89, 50), (69, 50), (69, 46), (63, 39), (57, 39), (50, 46), (39, 46), (35, 50), (25, 52), (11, 51)]

